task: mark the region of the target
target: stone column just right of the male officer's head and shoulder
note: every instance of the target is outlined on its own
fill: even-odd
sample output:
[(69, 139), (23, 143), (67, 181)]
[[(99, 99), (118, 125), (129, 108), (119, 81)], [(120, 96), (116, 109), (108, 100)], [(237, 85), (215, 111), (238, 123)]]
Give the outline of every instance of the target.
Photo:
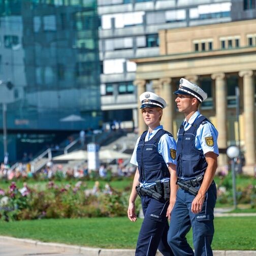
[[(215, 80), (217, 120), (216, 129), (218, 130), (218, 147), (227, 148), (227, 93), (225, 74), (212, 74), (211, 78)], [(218, 165), (221, 167), (227, 164), (227, 155), (220, 154), (218, 157)]]

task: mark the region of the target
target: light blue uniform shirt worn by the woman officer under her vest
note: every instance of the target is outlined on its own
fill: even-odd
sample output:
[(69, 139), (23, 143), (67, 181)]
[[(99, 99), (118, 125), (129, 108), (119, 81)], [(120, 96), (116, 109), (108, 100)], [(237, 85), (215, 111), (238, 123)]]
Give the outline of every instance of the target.
[[(154, 135), (161, 129), (163, 129), (163, 125), (157, 126), (152, 131), (152, 133), (149, 133), (149, 131), (148, 131), (146, 134), (146, 137), (145, 137), (145, 142), (152, 139), (154, 137)], [(133, 155), (132, 155), (132, 158), (130, 161), (131, 164), (136, 165), (136, 166), (138, 166), (137, 147), (138, 147), (139, 141), (140, 141), (140, 137), (137, 139), (137, 142), (136, 142), (136, 145), (135, 145), (135, 148), (133, 151)], [(157, 149), (158, 149), (159, 154), (161, 154), (163, 156), (164, 161), (167, 166), (168, 166), (168, 164), (176, 165), (176, 159), (173, 159), (170, 154), (171, 149), (175, 150), (175, 152), (176, 152), (176, 141), (173, 137), (170, 137), (168, 134), (164, 134), (159, 140)], [(164, 178), (161, 180), (161, 182), (167, 182), (169, 180), (170, 180), (170, 178)], [(144, 182), (144, 183), (141, 183), (141, 185), (144, 187), (149, 187), (149, 186), (155, 185), (155, 182), (153, 182), (153, 183), (145, 183)]]

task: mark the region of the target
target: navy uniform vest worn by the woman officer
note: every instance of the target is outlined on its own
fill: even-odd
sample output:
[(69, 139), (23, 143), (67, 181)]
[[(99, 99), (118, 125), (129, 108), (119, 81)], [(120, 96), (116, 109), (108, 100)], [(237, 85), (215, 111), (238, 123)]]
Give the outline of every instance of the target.
[(158, 142), (164, 134), (170, 133), (165, 130), (159, 130), (153, 138), (145, 142), (147, 131), (145, 131), (139, 140), (136, 157), (138, 170), (140, 173), (140, 182), (155, 182), (163, 178), (170, 178), (170, 172), (163, 156), (158, 152)]

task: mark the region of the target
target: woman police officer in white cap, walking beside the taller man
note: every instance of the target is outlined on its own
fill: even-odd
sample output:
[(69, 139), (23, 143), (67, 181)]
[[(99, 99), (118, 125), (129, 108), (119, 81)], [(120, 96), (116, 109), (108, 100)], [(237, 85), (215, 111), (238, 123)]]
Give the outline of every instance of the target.
[[(148, 126), (137, 140), (131, 163), (137, 166), (127, 215), (136, 221), (135, 200), (141, 197), (144, 220), (138, 237), (137, 256), (154, 256), (157, 247), (164, 256), (173, 255), (167, 242), (167, 217), (174, 206), (176, 191), (176, 142), (160, 121), (166, 102), (153, 92), (140, 95), (141, 112)], [(170, 193), (171, 183), (171, 193)], [(152, 194), (152, 195), (151, 195)]]

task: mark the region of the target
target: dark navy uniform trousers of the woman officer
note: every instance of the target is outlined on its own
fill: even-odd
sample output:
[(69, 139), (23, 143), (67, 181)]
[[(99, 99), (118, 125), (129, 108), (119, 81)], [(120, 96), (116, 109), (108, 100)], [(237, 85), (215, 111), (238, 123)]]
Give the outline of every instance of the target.
[(142, 222), (136, 256), (155, 256), (157, 248), (164, 256), (174, 255), (167, 242), (169, 230), (166, 217), (169, 201), (159, 202), (148, 196), (141, 198), (144, 220)]

